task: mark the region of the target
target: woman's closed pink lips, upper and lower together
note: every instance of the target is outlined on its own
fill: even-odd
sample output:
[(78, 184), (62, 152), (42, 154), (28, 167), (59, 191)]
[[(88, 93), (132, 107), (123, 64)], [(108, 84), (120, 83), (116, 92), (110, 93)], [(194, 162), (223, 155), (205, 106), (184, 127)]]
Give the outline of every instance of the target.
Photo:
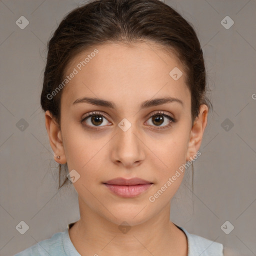
[(135, 197), (147, 190), (152, 185), (152, 182), (141, 178), (125, 179), (120, 177), (103, 182), (103, 184), (116, 195)]

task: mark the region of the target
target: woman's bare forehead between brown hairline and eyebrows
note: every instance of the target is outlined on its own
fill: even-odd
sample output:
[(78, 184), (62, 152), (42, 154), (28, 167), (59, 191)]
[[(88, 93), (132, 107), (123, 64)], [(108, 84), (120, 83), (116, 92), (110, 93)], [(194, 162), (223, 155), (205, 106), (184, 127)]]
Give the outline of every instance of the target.
[[(177, 80), (171, 70), (183, 74)], [(175, 69), (178, 68), (178, 69)], [(100, 97), (116, 105), (140, 104), (159, 96), (182, 98), (189, 103), (183, 66), (173, 53), (152, 42), (105, 43), (82, 51), (68, 64), (65, 75), (75, 73), (64, 86), (68, 105), (82, 96)], [(171, 73), (172, 74), (172, 73)]]

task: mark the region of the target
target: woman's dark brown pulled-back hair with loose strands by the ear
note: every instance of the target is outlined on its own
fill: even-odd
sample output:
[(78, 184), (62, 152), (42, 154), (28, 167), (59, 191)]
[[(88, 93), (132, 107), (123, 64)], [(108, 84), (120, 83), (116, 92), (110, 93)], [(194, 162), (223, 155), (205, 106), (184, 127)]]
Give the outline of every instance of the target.
[[(41, 107), (49, 110), (60, 126), (60, 90), (65, 69), (78, 53), (105, 42), (148, 40), (172, 50), (183, 64), (191, 92), (192, 121), (200, 104), (211, 106), (205, 96), (203, 53), (193, 27), (174, 9), (160, 0), (92, 0), (69, 12), (48, 41), (47, 62), (41, 92)], [(64, 164), (67, 170), (67, 164)], [(66, 172), (67, 174), (68, 172)], [(59, 186), (68, 182), (65, 176)], [(68, 183), (71, 183), (68, 182)]]

